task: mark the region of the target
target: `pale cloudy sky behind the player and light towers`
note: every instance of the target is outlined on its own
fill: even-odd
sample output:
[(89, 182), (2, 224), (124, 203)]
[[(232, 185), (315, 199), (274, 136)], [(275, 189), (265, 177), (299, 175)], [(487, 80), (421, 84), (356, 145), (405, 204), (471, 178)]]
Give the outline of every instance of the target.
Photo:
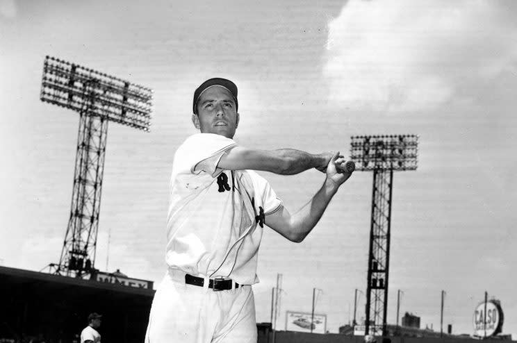
[[(517, 339), (517, 2), (511, 0), (0, 0), (0, 264), (58, 262), (72, 198), (76, 112), (42, 103), (44, 56), (154, 90), (151, 132), (111, 123), (95, 267), (158, 284), (174, 151), (196, 133), (191, 101), (207, 78), (239, 88), (234, 139), (257, 149), (350, 153), (352, 135), (419, 135), (418, 169), (395, 172), (388, 323), (473, 333), (499, 299)], [(291, 211), (319, 171), (261, 172)], [(354, 173), (300, 244), (266, 230), (257, 321), (281, 311), (364, 317), (372, 173)]]

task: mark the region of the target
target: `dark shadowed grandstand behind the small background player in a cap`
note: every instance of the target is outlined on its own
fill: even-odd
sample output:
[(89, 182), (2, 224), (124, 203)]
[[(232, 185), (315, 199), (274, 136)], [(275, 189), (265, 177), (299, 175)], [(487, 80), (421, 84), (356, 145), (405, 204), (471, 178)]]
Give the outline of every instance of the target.
[(90, 312), (102, 342), (142, 343), (154, 290), (0, 267), (0, 342), (79, 343)]

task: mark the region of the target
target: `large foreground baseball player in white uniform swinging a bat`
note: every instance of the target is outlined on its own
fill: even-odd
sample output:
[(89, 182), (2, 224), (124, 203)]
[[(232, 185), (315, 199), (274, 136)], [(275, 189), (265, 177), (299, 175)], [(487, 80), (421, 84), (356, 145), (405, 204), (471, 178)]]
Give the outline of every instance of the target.
[[(211, 78), (194, 93), (201, 131), (177, 149), (167, 217), (167, 273), (156, 290), (146, 343), (256, 343), (252, 285), (264, 226), (302, 242), (350, 173), (339, 153), (264, 151), (238, 145), (236, 85)], [(322, 187), (291, 214), (256, 170), (297, 174), (316, 168)]]

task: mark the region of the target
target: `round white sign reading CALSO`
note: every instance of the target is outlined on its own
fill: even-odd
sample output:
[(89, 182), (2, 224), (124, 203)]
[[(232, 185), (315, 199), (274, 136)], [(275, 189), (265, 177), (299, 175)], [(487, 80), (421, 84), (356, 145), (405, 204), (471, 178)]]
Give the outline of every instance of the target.
[(502, 332), (503, 314), (500, 302), (489, 300), (479, 303), (474, 311), (474, 335), (490, 337)]

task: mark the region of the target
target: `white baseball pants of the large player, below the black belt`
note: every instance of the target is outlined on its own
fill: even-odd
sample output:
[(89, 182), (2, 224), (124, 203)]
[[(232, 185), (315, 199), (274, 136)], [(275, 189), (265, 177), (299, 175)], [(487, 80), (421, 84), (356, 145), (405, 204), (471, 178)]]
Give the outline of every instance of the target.
[(251, 285), (214, 292), (169, 269), (156, 290), (145, 343), (256, 343)]

